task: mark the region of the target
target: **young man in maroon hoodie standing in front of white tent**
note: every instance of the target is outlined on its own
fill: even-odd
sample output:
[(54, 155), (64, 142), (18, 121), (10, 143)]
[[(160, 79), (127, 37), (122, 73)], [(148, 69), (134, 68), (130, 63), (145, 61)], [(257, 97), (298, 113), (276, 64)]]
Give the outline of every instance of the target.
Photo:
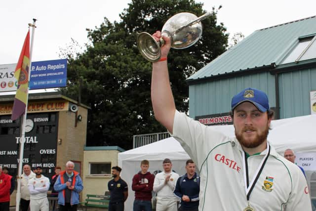
[(133, 177), (132, 190), (135, 191), (133, 211), (152, 211), (152, 190), (155, 176), (148, 171), (149, 161), (140, 163), (141, 171)]

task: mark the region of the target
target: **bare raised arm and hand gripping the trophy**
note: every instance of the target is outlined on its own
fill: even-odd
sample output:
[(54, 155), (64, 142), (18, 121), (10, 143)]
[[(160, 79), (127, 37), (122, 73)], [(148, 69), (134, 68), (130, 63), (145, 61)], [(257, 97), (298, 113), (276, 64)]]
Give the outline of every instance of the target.
[[(157, 31), (153, 37), (158, 41), (161, 33)], [(170, 39), (163, 37), (163, 40), (165, 44), (161, 47), (161, 58), (167, 57), (170, 49)], [(151, 95), (155, 118), (172, 132), (176, 107), (170, 87), (167, 60), (153, 63)]]

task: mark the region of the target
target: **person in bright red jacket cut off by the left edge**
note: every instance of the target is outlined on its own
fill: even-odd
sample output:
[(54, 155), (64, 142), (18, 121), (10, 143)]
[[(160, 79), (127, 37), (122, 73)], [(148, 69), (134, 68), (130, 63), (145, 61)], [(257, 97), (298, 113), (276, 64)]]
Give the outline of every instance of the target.
[(11, 179), (0, 167), (0, 211), (9, 211)]

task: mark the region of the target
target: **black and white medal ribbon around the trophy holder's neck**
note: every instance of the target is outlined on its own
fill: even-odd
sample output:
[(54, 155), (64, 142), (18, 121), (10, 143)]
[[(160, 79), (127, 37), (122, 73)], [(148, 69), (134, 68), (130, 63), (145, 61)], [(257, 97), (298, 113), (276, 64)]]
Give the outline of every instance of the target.
[(245, 191), (246, 191), (246, 196), (247, 196), (247, 201), (249, 201), (250, 198), (250, 194), (257, 182), (257, 180), (259, 179), (259, 176), (268, 160), (268, 157), (270, 155), (270, 145), (267, 142), (267, 151), (268, 153), (265, 155), (265, 157), (262, 159), (259, 167), (257, 168), (254, 176), (252, 177), (252, 180), (249, 184), (249, 177), (248, 177), (248, 162), (247, 162), (247, 157), (246, 157), (246, 153), (243, 152), (242, 153), (242, 167), (243, 167), (243, 178), (245, 181)]

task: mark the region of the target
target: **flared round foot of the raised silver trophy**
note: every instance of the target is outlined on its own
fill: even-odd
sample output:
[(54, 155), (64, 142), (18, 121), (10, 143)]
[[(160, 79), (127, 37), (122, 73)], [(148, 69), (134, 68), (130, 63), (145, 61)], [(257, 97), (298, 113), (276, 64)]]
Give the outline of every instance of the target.
[(137, 47), (145, 59), (150, 62), (156, 62), (161, 57), (161, 40), (162, 39), (157, 42), (149, 33), (142, 32), (140, 34), (137, 34)]

